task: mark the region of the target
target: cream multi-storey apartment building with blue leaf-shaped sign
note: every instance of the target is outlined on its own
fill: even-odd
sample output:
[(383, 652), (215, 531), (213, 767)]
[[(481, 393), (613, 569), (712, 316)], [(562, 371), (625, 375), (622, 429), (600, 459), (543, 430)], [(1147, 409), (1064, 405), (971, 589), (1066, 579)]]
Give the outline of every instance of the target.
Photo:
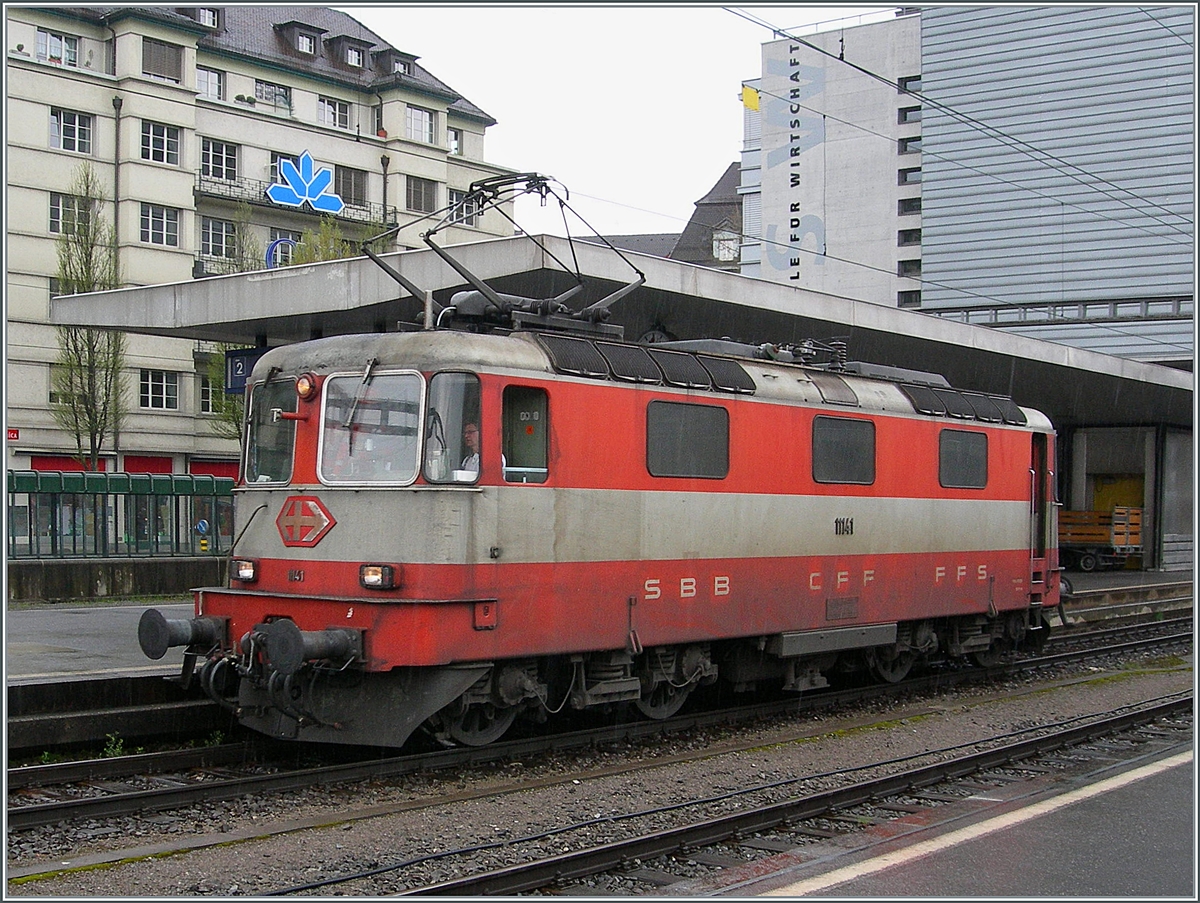
[[(98, 178), (127, 286), (245, 269), (244, 235), (264, 253), (256, 268), (287, 265), (325, 215), (271, 201), (268, 189), (290, 185), (289, 173), (310, 172), (313, 195), (328, 173), (320, 193), (341, 207), (325, 213), (346, 239), (401, 226), (376, 246), (390, 251), (420, 246), (428, 215), (473, 181), (511, 172), (485, 161), (487, 113), (334, 10), (10, 6), (6, 16), (10, 468), (79, 466), (73, 436), (49, 413), (49, 299), (80, 165)], [(449, 243), (512, 233), (494, 214), (455, 217)], [(106, 443), (107, 470), (235, 472), (238, 443), (214, 429), (216, 352), (128, 336), (128, 415)]]

